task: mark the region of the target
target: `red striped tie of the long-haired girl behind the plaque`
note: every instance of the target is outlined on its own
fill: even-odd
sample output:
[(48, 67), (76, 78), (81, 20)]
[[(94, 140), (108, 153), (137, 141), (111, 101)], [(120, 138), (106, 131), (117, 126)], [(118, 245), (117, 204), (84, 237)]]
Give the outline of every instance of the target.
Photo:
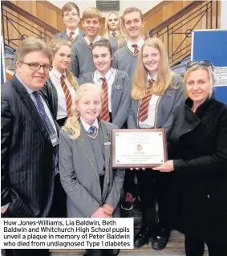
[(148, 119), (148, 106), (152, 98), (151, 89), (152, 89), (153, 83), (154, 83), (153, 79), (148, 80), (147, 93), (146, 95), (144, 95), (144, 98), (142, 99), (140, 104), (139, 120), (141, 122), (144, 122), (144, 120)]

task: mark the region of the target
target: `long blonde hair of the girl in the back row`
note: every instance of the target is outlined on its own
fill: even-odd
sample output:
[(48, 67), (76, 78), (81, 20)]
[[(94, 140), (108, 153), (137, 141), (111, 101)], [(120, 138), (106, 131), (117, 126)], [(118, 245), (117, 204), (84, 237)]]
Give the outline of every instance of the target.
[(124, 45), (124, 42), (125, 42), (125, 36), (124, 36), (124, 33), (123, 33), (123, 30), (122, 30), (122, 20), (119, 16), (119, 14), (117, 14), (115, 11), (111, 11), (107, 17), (106, 17), (106, 22), (105, 22), (105, 32), (103, 34), (103, 38), (104, 39), (110, 39), (110, 29), (109, 29), (109, 26), (108, 26), (108, 21), (109, 21), (109, 17), (111, 14), (116, 14), (116, 17), (118, 19), (118, 22), (119, 22), (119, 27), (118, 27), (118, 38), (117, 38), (117, 47), (118, 49), (120, 49), (121, 47), (123, 47)]

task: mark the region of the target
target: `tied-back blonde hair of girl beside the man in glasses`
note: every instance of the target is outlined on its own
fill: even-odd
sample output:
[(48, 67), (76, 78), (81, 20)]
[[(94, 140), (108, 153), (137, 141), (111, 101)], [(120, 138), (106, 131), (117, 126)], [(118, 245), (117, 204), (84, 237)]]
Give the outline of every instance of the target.
[[(70, 47), (71, 49), (71, 41), (67, 39), (51, 39), (51, 42), (49, 43), (49, 49), (52, 53), (52, 58), (55, 57), (55, 54), (59, 49), (63, 46)], [(75, 88), (75, 90), (79, 87), (78, 83), (75, 80), (74, 75), (71, 71), (66, 70), (67, 79), (71, 83), (71, 86)]]

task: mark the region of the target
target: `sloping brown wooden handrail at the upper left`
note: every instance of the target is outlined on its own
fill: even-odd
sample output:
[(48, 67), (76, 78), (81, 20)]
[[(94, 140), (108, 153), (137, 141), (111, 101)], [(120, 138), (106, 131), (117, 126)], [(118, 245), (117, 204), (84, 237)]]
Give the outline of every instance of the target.
[(59, 30), (57, 30), (55, 27), (48, 25), (47, 23), (43, 22), (41, 19), (35, 17), (34, 15), (30, 14), (26, 10), (23, 10), (21, 7), (14, 5), (13, 2), (10, 1), (2, 1), (2, 6), (6, 6), (10, 10), (13, 10), (17, 14), (22, 15), (22, 17), (30, 20), (30, 22), (34, 22), (35, 24), (43, 27), (43, 29), (51, 32), (51, 34), (55, 35), (59, 33)]

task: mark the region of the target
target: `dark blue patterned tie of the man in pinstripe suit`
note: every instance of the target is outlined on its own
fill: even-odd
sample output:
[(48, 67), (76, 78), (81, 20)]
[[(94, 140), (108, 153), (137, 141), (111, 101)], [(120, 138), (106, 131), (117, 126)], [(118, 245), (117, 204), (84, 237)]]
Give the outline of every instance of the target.
[(47, 128), (47, 131), (48, 131), (49, 135), (50, 136), (55, 135), (56, 134), (55, 128), (51, 124), (51, 120), (49, 119), (49, 117), (47, 116), (47, 113), (45, 112), (43, 101), (41, 99), (41, 96), (39, 95), (39, 92), (34, 91), (33, 95), (34, 95), (34, 98), (35, 98), (37, 109), (38, 109), (39, 114), (40, 114), (40, 116), (43, 120), (44, 125)]

